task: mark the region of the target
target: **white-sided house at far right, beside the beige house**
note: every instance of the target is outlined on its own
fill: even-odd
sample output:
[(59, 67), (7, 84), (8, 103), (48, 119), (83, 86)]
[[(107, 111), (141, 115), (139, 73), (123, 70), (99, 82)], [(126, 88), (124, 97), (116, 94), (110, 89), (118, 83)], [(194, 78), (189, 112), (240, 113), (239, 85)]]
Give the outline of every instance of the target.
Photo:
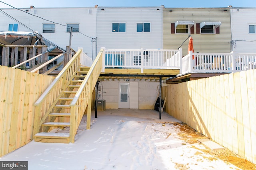
[(256, 53), (256, 8), (231, 7), (232, 51)]

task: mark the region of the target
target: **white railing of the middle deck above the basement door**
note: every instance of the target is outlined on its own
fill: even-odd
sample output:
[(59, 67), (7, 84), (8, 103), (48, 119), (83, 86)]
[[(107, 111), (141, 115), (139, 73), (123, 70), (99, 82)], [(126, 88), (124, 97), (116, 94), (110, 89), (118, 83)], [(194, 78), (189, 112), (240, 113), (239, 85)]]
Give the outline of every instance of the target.
[(182, 49), (179, 50), (130, 50), (107, 49), (103, 55), (105, 68), (180, 69)]

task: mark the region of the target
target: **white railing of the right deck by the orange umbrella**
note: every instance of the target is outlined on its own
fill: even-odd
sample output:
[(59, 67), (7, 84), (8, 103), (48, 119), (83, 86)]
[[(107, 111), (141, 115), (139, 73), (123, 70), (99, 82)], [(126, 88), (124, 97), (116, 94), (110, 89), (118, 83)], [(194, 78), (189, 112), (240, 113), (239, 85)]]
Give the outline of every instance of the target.
[(237, 72), (256, 68), (256, 53), (192, 53), (182, 58), (181, 74)]

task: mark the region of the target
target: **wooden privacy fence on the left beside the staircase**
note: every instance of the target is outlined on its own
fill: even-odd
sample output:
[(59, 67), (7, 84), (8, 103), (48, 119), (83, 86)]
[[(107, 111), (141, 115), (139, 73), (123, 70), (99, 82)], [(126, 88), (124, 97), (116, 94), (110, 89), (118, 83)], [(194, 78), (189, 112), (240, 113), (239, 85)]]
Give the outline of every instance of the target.
[(0, 66), (0, 156), (32, 141), (34, 102), (53, 80)]

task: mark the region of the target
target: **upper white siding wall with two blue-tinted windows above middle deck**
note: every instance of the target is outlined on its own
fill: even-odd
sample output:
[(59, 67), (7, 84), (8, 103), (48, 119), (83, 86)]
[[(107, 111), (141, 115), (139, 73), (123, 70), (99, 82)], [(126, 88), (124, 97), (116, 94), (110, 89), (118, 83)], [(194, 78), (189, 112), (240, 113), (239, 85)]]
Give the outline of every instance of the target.
[(98, 7), (98, 47), (162, 49), (162, 9), (162, 6)]

